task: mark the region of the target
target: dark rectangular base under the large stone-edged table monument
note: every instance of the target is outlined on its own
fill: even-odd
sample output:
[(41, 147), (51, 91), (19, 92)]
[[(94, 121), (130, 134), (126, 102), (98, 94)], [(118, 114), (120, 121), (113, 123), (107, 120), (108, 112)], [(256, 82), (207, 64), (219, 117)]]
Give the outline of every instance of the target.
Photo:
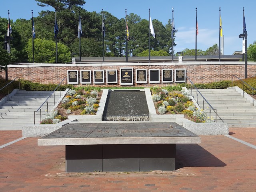
[(176, 144), (67, 145), (66, 172), (175, 170)]

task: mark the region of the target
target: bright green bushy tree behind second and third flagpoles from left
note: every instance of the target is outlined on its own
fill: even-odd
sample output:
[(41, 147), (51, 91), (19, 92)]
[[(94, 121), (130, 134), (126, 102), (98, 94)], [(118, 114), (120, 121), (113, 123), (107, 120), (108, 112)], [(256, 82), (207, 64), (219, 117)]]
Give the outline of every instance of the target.
[[(28, 53), (28, 61), (32, 62), (32, 38), (28, 41), (26, 49)], [(52, 40), (46, 39), (34, 39), (34, 62), (35, 63), (54, 63), (56, 62), (56, 44)], [(62, 44), (58, 43), (58, 62), (71, 62), (70, 49)]]

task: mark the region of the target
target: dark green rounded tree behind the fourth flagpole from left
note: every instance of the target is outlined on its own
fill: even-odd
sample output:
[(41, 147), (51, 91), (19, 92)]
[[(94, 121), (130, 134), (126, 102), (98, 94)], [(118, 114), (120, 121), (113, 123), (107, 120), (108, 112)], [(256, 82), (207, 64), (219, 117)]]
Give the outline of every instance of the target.
[[(71, 44), (72, 52), (79, 55), (79, 39), (77, 38)], [(82, 57), (102, 57), (102, 43), (95, 38), (81, 38), (81, 56)]]

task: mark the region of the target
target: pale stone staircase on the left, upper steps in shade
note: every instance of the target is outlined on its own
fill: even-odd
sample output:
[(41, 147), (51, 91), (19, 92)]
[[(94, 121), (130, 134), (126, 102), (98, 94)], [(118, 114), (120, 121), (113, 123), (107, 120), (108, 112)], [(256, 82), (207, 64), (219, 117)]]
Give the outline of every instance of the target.
[[(9, 99), (0, 103), (0, 130), (22, 130), (24, 125), (34, 124), (34, 111), (44, 103), (52, 91), (25, 91), (17, 90), (10, 94)], [(55, 92), (55, 104), (64, 91)], [(54, 107), (54, 95), (48, 99), (48, 111)], [(47, 112), (47, 104), (42, 106), (41, 118)], [(40, 122), (40, 110), (35, 114), (35, 124)]]

